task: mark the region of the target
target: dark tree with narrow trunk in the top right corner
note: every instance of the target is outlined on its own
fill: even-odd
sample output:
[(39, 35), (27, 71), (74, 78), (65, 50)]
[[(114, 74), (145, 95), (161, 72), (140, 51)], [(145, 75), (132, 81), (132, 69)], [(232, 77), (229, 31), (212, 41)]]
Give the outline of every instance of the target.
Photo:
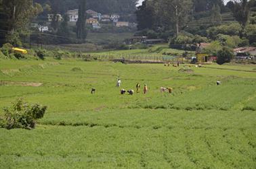
[(250, 5), (247, 0), (240, 0), (240, 2), (234, 2), (234, 7), (232, 10), (234, 18), (242, 27), (240, 32), (240, 37), (243, 36), (244, 29), (247, 26), (250, 14)]

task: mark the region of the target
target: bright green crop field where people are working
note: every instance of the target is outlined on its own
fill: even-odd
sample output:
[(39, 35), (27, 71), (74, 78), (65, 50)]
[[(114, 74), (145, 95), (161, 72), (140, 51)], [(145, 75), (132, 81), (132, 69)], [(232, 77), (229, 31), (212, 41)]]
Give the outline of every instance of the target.
[[(16, 82), (0, 86), (1, 109), (48, 106), (36, 129), (0, 129), (0, 168), (256, 168), (255, 68), (0, 60), (0, 80)], [(117, 77), (148, 94), (121, 96)]]

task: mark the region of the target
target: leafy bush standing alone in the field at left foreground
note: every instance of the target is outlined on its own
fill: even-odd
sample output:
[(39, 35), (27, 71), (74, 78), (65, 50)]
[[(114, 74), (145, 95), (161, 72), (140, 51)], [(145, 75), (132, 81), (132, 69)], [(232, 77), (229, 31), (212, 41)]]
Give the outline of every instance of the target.
[(17, 100), (12, 108), (3, 108), (5, 119), (1, 120), (6, 129), (34, 129), (36, 120), (43, 118), (47, 106), (27, 104), (22, 99)]

